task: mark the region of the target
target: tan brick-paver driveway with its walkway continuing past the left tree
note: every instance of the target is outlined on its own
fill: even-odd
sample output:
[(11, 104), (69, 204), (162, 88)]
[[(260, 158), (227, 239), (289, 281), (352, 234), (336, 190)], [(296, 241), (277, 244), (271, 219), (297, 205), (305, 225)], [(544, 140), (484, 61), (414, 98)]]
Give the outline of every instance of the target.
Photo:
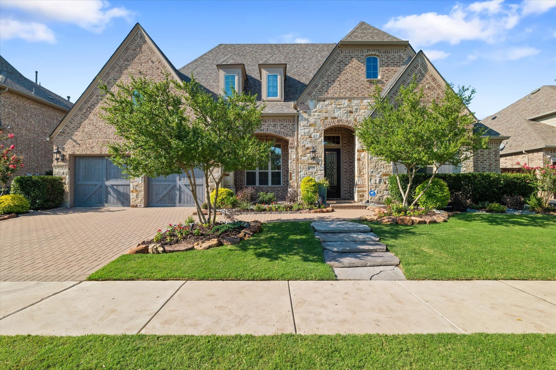
[[(72, 208), (0, 221), (0, 281), (79, 281), (152, 237), (193, 208)], [(330, 214), (246, 215), (245, 220), (347, 219), (365, 210)]]

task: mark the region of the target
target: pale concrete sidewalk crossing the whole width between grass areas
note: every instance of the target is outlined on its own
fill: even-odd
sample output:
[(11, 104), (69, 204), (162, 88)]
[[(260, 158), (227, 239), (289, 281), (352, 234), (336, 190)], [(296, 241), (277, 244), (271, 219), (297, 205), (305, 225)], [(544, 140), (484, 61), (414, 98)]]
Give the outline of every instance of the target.
[(0, 282), (0, 334), (556, 333), (556, 281)]

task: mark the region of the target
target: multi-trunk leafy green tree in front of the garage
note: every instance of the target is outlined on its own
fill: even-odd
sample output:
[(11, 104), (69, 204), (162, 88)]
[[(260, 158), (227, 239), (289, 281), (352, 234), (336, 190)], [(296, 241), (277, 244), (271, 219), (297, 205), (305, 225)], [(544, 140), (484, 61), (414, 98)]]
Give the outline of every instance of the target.
[[(132, 177), (185, 173), (203, 223), (216, 221), (226, 172), (256, 167), (269, 158), (270, 144), (253, 135), (264, 109), (254, 95), (234, 92), (214, 98), (193, 78), (178, 82), (168, 76), (161, 82), (131, 77), (128, 85), (116, 84), (116, 91), (103, 84), (100, 89), (106, 94), (101, 116), (122, 138), (108, 145), (113, 163)], [(203, 172), (206, 185), (210, 179), (216, 185), (214, 204), (205, 186), (207, 217), (197, 200), (196, 168)]]

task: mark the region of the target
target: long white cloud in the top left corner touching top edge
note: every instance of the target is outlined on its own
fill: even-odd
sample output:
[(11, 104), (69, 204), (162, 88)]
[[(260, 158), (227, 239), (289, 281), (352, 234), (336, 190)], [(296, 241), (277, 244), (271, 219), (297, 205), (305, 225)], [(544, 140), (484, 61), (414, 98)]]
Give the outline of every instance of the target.
[(111, 7), (104, 0), (3, 0), (2, 6), (52, 21), (76, 24), (88, 31), (101, 32), (114, 18), (129, 19), (131, 12), (124, 7)]

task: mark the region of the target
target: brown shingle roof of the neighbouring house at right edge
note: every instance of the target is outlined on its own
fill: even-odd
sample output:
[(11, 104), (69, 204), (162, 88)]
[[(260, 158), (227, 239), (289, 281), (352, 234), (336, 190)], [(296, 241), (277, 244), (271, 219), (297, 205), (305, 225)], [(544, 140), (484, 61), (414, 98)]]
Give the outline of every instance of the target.
[(481, 122), (510, 136), (500, 154), (556, 147), (556, 126), (530, 119), (547, 115), (555, 107), (556, 86), (544, 85)]

